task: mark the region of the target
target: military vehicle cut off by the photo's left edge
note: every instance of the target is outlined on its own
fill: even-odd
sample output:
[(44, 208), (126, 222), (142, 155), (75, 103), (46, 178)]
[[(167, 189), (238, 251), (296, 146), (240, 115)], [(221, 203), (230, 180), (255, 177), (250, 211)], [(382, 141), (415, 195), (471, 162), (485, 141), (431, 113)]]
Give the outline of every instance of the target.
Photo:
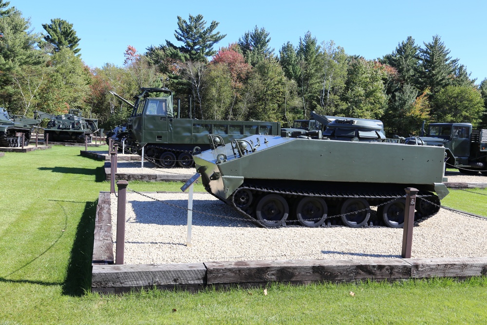
[(22, 147), (21, 134), (24, 134), (23, 145), (27, 146), (32, 127), (39, 123), (40, 119), (26, 118), (22, 115), (11, 117), (0, 107), (0, 147)]

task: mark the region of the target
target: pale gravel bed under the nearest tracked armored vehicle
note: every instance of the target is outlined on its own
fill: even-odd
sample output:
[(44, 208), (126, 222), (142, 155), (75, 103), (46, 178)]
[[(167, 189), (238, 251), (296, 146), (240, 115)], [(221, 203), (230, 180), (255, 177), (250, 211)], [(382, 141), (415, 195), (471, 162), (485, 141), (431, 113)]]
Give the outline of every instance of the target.
[[(188, 194), (146, 195), (160, 201), (127, 192), (125, 264), (401, 257), (403, 229), (343, 226), (263, 229), (242, 219), (208, 193), (194, 193), (191, 247), (188, 247), (187, 210), (171, 206), (186, 208)], [(111, 207), (115, 243), (114, 194)], [(414, 227), (412, 258), (486, 257), (486, 233), (487, 219), (441, 209)]]

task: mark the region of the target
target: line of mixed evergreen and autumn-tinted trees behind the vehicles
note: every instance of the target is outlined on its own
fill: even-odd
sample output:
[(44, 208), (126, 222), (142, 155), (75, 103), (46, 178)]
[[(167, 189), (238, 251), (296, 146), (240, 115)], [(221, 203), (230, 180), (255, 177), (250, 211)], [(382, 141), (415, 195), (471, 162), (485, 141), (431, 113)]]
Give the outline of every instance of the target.
[[(123, 66), (90, 69), (80, 39), (64, 19), (43, 24), (45, 34), (10, 2), (0, 0), (0, 105), (11, 114), (81, 109), (106, 129), (130, 115), (109, 91), (130, 99), (140, 87), (166, 87), (198, 119), (269, 120), (323, 115), (380, 119), (388, 134), (418, 134), (427, 122), (470, 122), (487, 127), (487, 78), (476, 85), (467, 68), (434, 35), (420, 46), (412, 37), (375, 60), (347, 55), (333, 41), (307, 32), (278, 53), (255, 26), (216, 48), (226, 35), (202, 15), (177, 17), (175, 39), (144, 53), (132, 46)], [(188, 117), (182, 109), (181, 117)]]

